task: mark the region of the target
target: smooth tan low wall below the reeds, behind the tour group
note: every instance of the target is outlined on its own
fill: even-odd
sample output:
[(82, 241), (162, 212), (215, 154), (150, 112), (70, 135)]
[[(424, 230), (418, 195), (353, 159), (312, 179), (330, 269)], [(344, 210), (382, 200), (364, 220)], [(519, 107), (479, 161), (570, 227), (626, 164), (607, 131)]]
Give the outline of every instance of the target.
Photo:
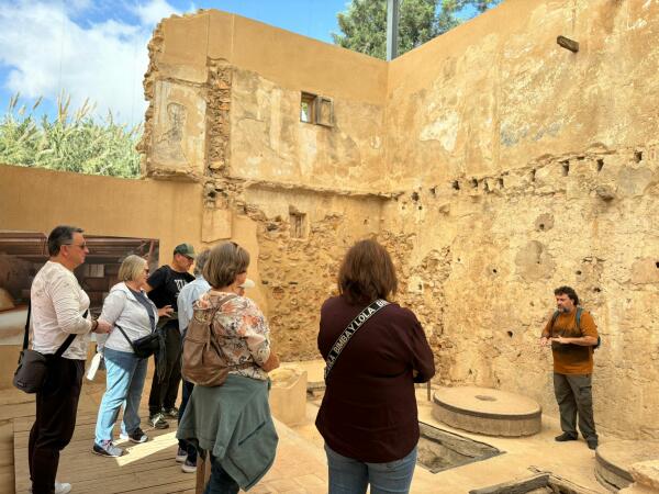
[[(0, 166), (0, 229), (58, 224), (90, 235), (157, 238), (160, 263), (181, 242), (201, 247), (201, 187)], [(11, 385), (18, 347), (0, 346), (0, 388)]]

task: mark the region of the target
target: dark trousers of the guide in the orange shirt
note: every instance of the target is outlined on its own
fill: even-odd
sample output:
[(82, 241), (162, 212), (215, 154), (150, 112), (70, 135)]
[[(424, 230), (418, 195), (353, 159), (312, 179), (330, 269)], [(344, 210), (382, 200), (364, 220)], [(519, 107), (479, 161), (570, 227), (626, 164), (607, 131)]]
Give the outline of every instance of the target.
[(591, 374), (554, 373), (554, 394), (560, 411), (560, 428), (563, 433), (577, 436), (577, 413), (579, 430), (585, 438), (597, 438), (593, 417), (593, 394)]

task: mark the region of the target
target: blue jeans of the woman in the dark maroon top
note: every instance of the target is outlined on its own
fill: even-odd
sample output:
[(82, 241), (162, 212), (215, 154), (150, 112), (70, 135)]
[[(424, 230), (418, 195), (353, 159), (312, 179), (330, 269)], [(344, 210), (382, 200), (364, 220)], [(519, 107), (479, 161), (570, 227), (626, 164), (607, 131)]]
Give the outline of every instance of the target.
[(416, 446), (400, 460), (365, 463), (344, 457), (325, 445), (330, 468), (330, 494), (364, 494), (370, 483), (371, 494), (407, 493), (416, 465)]

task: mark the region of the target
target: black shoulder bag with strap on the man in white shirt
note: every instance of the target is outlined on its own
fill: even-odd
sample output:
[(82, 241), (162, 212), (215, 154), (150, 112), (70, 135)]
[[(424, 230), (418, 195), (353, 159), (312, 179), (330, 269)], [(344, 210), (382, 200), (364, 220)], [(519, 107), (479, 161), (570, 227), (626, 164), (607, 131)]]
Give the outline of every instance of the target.
[[(30, 302), (30, 305), (27, 305), (27, 321), (25, 321), (23, 349), (21, 350), (21, 356), (19, 357), (19, 367), (14, 372), (13, 385), (25, 393), (37, 393), (42, 390), (46, 380), (49, 360), (62, 357), (78, 335), (68, 335), (62, 346), (53, 355), (43, 355), (36, 350), (30, 350), (27, 349), (27, 344), (30, 341), (31, 313), (32, 302)], [(87, 314), (89, 314), (89, 311), (85, 311), (82, 317), (87, 318)]]

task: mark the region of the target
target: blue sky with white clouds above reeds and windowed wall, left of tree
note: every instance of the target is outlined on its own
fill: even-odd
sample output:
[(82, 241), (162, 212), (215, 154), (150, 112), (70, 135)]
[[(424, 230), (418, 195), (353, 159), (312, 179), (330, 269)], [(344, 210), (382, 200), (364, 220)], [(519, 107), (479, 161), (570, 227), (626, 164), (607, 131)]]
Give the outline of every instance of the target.
[(146, 110), (147, 44), (171, 14), (219, 9), (332, 43), (348, 0), (0, 0), (0, 116), (12, 96), (56, 113), (64, 90), (78, 109), (136, 124)]

